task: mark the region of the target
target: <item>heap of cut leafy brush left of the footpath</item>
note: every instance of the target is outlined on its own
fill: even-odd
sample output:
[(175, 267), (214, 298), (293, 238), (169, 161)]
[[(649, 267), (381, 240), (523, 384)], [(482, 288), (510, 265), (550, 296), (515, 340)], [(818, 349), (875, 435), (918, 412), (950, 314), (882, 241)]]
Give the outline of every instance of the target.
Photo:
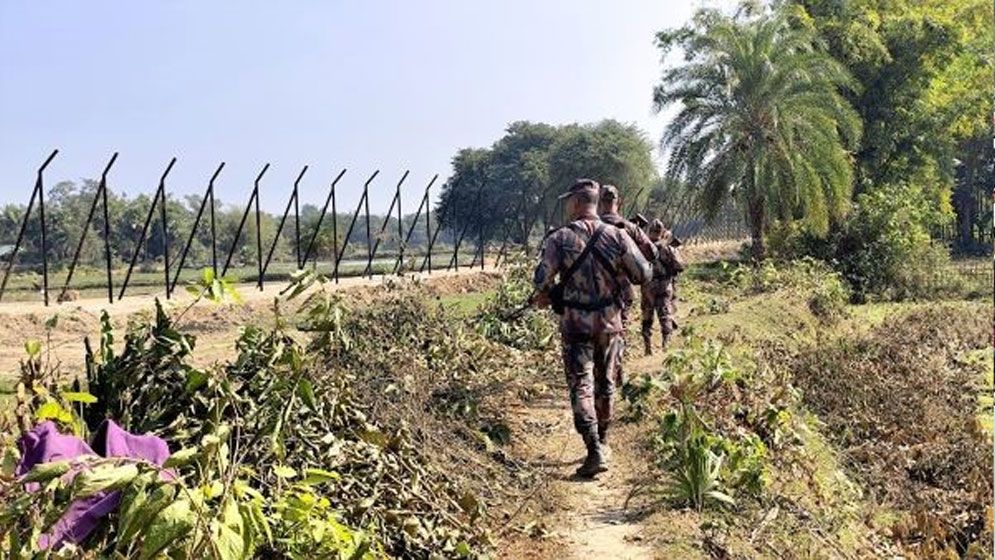
[[(322, 282), (303, 274), (290, 295)], [(126, 498), (84, 548), (136, 558), (486, 550), (488, 503), (529, 477), (500, 448), (510, 434), (497, 404), (528, 383), (527, 356), (509, 357), (419, 287), (381, 296), (352, 310), (318, 287), (274, 328), (243, 328), (236, 357), (207, 368), (190, 364), (196, 340), (162, 307), (126, 333), (121, 349), (105, 317), (88, 352), (82, 415), (45, 396), (76, 393), (59, 389), (54, 374), (41, 382), (32, 347), (22, 391), (37, 396), (18, 409), (24, 427), (49, 418), (85, 433), (111, 417), (160, 435), (173, 451), (167, 468), (176, 478), (147, 464), (87, 461), (84, 472), (95, 474), (86, 480), (100, 474), (101, 489)], [(32, 557), (39, 534), (85, 495), (83, 475), (48, 470), (28, 475), (48, 481), (37, 493), (4, 472), (0, 542), (15, 557)]]

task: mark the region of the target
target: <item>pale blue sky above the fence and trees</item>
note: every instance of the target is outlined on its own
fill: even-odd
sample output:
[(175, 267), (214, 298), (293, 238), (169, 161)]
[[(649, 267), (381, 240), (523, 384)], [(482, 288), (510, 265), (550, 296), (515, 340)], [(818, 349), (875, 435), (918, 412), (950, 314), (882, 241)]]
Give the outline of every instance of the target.
[[(654, 32), (698, 0), (0, 3), (0, 203), (98, 176), (151, 193), (170, 157), (171, 194), (244, 204), (265, 162), (262, 202), (282, 209), (300, 167), (303, 200), (335, 172), (342, 208), (373, 169), (374, 208), (404, 169), (408, 204), (465, 146), (511, 121), (635, 122), (654, 139)], [(418, 187), (415, 187), (418, 185)], [(408, 207), (412, 210), (413, 208)], [(381, 209), (382, 211), (383, 209)]]

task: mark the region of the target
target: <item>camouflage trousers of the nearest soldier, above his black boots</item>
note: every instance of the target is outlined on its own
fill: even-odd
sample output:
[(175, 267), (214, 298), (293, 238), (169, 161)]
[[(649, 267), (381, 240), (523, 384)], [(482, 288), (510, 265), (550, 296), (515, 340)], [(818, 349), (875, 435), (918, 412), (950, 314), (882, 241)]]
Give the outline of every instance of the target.
[(605, 428), (611, 422), (621, 359), (621, 333), (563, 336), (574, 428), (582, 436), (597, 436), (598, 426)]

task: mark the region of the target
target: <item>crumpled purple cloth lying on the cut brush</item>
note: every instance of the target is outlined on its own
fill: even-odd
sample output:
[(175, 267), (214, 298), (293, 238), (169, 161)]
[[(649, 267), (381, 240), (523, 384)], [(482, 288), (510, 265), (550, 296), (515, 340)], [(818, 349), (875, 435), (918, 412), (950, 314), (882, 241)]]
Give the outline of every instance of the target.
[[(75, 459), (83, 455), (132, 457), (159, 466), (169, 457), (169, 446), (161, 438), (151, 435), (136, 436), (124, 431), (111, 420), (104, 420), (100, 424), (92, 443), (91, 448), (76, 436), (60, 434), (51, 421), (43, 422), (21, 436), (18, 442), (21, 462), (17, 465), (16, 474), (23, 475), (39, 463)], [(65, 476), (72, 478), (77, 472), (77, 469), (73, 469)], [(37, 488), (38, 485), (35, 484), (29, 485), (27, 489), (34, 491)], [(66, 541), (82, 542), (107, 514), (117, 508), (120, 501), (121, 493), (117, 491), (99, 492), (76, 500), (49, 532), (39, 538), (39, 546), (48, 549), (58, 547)]]

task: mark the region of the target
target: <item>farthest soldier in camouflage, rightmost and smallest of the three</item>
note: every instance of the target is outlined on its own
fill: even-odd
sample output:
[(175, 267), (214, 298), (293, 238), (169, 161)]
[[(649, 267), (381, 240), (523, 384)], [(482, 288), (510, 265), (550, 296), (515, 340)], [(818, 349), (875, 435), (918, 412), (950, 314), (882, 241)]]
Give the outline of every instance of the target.
[(663, 333), (663, 348), (667, 348), (670, 336), (677, 329), (677, 302), (674, 281), (684, 271), (677, 248), (671, 243), (673, 234), (663, 227), (663, 222), (653, 220), (649, 226), (649, 238), (657, 248), (657, 258), (653, 260), (653, 278), (642, 285), (642, 334), (646, 355), (653, 354), (653, 316), (660, 321)]

